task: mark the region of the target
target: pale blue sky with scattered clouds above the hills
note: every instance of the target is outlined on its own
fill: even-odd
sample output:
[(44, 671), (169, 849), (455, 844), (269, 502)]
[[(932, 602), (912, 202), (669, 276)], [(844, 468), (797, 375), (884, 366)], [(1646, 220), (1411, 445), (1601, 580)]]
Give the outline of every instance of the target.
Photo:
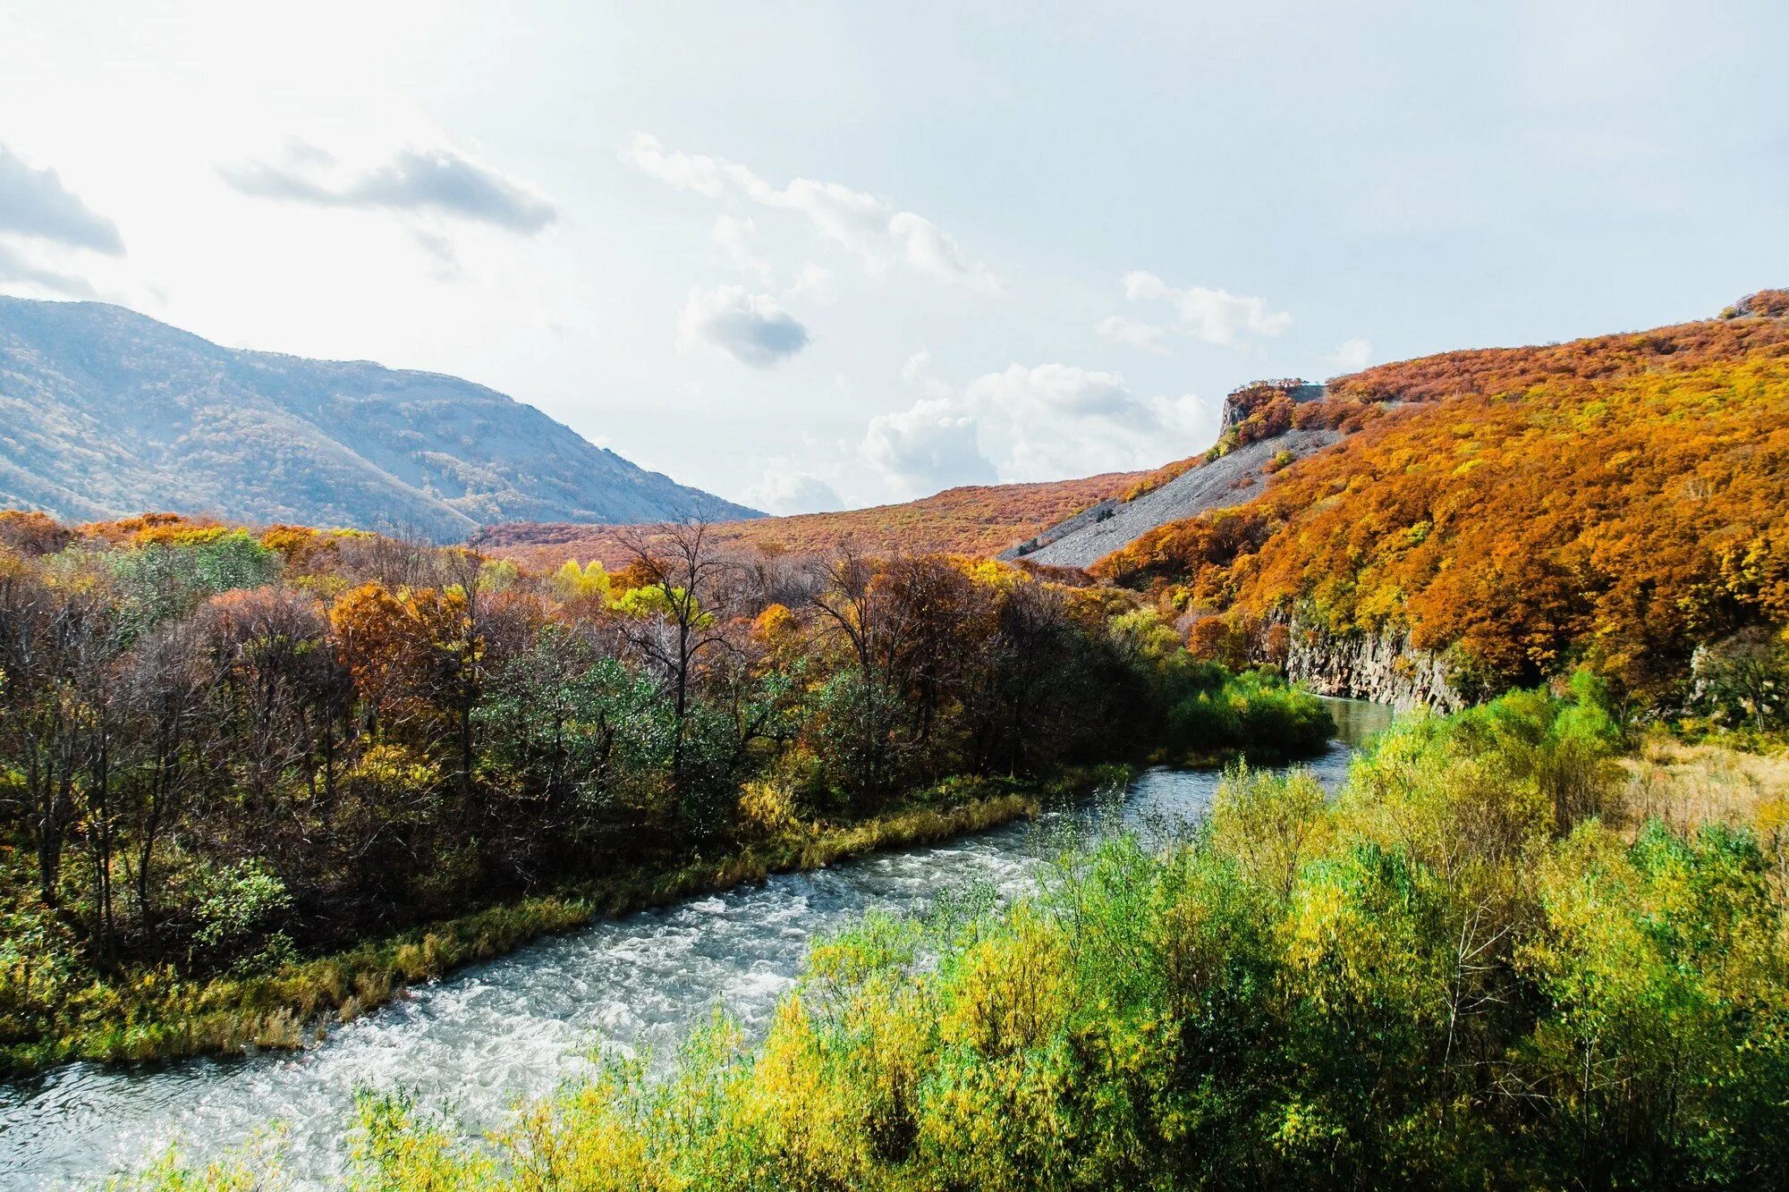
[(778, 514), (1789, 285), (1780, 0), (0, 0), (0, 292), (463, 376)]

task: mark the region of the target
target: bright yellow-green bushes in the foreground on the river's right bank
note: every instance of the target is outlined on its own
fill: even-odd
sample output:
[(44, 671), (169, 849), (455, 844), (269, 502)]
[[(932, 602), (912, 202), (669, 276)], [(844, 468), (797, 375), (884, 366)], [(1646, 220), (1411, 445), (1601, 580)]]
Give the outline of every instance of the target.
[(1234, 771), (1191, 839), (1005, 909), (871, 916), (760, 1045), (717, 1024), (488, 1140), (367, 1095), (358, 1187), (1784, 1187), (1789, 804), (1710, 805), (1716, 757), (1642, 820), (1580, 693), (1403, 721), (1335, 800)]

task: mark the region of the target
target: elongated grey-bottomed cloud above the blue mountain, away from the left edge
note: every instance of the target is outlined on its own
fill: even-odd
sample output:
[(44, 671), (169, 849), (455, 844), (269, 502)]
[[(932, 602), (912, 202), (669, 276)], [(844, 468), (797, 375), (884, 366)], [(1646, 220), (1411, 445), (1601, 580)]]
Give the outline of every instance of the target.
[(283, 199), (324, 208), (429, 211), (531, 236), (558, 218), (558, 209), (524, 183), (451, 149), (403, 149), (360, 174), (345, 174), (335, 156), (290, 141), (284, 161), (222, 166), (234, 190), (256, 199)]

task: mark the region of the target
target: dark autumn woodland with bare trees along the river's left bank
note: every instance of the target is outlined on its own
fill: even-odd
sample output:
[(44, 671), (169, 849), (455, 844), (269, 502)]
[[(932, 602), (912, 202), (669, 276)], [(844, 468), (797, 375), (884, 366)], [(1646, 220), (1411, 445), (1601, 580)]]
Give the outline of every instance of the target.
[(993, 564), (748, 562), (685, 526), (614, 575), (528, 575), (358, 532), (0, 514), (0, 1049), (95, 983), (276, 972), (959, 775), (1327, 732), (1134, 598)]

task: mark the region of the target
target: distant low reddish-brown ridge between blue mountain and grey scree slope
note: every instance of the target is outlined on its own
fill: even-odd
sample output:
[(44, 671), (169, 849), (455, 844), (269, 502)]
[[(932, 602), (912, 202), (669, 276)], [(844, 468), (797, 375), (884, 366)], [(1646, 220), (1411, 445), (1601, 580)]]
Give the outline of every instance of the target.
[[(1109, 501), (1145, 476), (1149, 473), (1106, 473), (1025, 485), (966, 485), (900, 505), (717, 524), (714, 541), (766, 553), (825, 551), (850, 541), (866, 551), (995, 555), (1077, 510)], [(567, 558), (621, 566), (630, 555), (619, 532), (619, 526), (519, 523), (492, 526), (474, 544), (537, 567)]]

